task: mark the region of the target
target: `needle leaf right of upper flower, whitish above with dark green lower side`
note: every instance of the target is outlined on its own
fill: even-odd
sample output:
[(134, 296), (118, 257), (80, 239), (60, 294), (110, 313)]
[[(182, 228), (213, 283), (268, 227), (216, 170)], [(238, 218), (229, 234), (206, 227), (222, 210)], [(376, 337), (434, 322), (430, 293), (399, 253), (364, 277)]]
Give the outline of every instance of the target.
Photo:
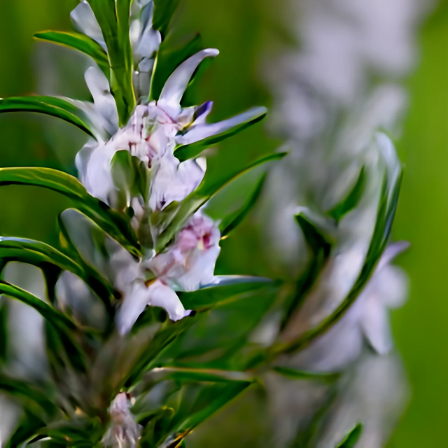
[(255, 125), (265, 118), (266, 114), (267, 110), (264, 107), (257, 107), (218, 123), (193, 126), (183, 137), (179, 137), (181, 146), (176, 148), (174, 155), (181, 162), (195, 158), (204, 149)]

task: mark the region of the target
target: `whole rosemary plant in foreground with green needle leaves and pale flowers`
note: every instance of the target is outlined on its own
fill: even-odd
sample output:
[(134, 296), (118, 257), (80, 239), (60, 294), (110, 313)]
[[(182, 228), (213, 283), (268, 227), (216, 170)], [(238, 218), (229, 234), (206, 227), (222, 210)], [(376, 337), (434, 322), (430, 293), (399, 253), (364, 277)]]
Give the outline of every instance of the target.
[[(89, 136), (76, 156), (78, 179), (48, 168), (0, 169), (0, 186), (48, 188), (73, 204), (57, 218), (57, 247), (0, 239), (1, 269), (21, 262), (45, 277), (46, 297), (8, 276), (0, 293), (43, 316), (50, 365), (40, 381), (12, 374), (4, 349), (10, 343), (8, 302), (1, 302), (0, 391), (20, 409), (12, 433), (0, 435), (6, 447), (181, 447), (211, 414), (260, 386), (266, 372), (328, 381), (333, 373), (295, 370), (282, 360), (330, 334), (402, 248), (386, 250), (401, 167), (390, 139), (377, 134), (381, 188), (372, 236), (356, 281), (335, 309), (309, 328), (295, 321), (303, 297), (325, 272), (339, 222), (360, 204), (367, 169), (325, 222), (308, 211), (293, 212), (311, 256), (288, 300), (278, 297), (290, 283), (214, 275), (221, 239), (251, 210), (264, 176), (248, 202), (221, 221), (209, 218), (204, 206), (244, 172), (286, 154), (207, 174), (202, 151), (257, 123), (266, 110), (210, 124), (211, 102), (184, 106), (198, 66), (218, 50), (200, 48), (196, 38), (166, 50), (177, 3), (81, 1), (71, 14), (76, 32), (43, 31), (36, 38), (92, 59), (85, 82), (93, 102), (42, 96), (0, 101), (0, 112), (44, 113)], [(177, 68), (171, 73), (167, 66)], [(274, 340), (268, 346), (253, 342), (253, 331), (279, 309), (281, 331)], [(369, 324), (366, 319), (367, 336)], [(339, 446), (353, 446), (360, 430), (356, 426)]]

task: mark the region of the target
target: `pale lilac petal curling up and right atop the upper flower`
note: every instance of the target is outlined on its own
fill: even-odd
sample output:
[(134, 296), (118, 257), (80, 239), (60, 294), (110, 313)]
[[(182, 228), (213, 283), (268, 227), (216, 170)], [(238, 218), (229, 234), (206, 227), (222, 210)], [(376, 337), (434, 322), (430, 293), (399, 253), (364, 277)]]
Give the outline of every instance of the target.
[(193, 73), (195, 73), (199, 64), (206, 57), (215, 57), (218, 54), (219, 50), (216, 50), (216, 48), (207, 48), (207, 50), (197, 52), (179, 65), (165, 83), (165, 86), (160, 93), (158, 104), (162, 108), (166, 107), (167, 109), (173, 109), (175, 113), (179, 113), (181, 109), (181, 99), (188, 87), (188, 83), (190, 82)]

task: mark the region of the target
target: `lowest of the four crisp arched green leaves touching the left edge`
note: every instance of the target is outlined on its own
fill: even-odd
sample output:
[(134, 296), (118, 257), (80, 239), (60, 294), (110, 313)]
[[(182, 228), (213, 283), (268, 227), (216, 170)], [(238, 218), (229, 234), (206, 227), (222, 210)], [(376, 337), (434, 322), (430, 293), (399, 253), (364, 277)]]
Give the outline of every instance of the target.
[(28, 293), (26, 290), (18, 288), (18, 286), (6, 283), (6, 281), (0, 281), (0, 294), (12, 297), (15, 300), (19, 300), (27, 304), (29, 307), (34, 308), (43, 318), (64, 330), (76, 330), (76, 324), (71, 321), (67, 316), (62, 314), (61, 311), (50, 307), (50, 305), (43, 302), (35, 295)]

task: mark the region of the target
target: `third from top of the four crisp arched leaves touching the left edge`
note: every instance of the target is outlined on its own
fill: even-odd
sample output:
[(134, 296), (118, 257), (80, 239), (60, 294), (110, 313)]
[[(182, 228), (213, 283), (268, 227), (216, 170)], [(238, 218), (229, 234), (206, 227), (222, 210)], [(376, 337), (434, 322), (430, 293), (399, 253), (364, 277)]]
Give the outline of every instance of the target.
[(94, 293), (104, 301), (106, 307), (111, 309), (113, 287), (107, 283), (92, 267), (83, 262), (81, 258), (74, 261), (54, 247), (34, 241), (32, 239), (0, 237), (0, 260), (19, 261), (34, 265), (47, 271), (48, 265), (69, 271), (83, 279), (92, 288)]

